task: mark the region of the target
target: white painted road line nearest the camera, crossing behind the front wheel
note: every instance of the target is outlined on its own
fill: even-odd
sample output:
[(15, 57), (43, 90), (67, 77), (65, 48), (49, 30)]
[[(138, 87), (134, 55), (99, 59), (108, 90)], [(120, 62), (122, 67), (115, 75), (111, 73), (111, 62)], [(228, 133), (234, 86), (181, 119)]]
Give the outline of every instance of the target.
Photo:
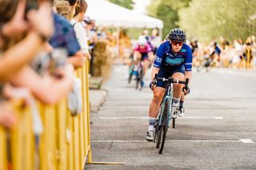
[[(251, 140), (252, 141), (252, 140)], [(93, 143), (138, 143), (147, 140), (91, 140)], [(242, 140), (166, 140), (166, 142), (243, 142)], [(254, 141), (252, 141), (254, 143)]]

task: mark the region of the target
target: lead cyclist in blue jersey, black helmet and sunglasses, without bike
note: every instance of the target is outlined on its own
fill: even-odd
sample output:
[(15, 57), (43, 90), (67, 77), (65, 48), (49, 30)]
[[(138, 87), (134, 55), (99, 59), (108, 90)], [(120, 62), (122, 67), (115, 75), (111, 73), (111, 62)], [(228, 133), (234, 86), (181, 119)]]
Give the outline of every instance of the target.
[[(189, 45), (186, 45), (186, 34), (183, 30), (176, 28), (170, 30), (167, 35), (166, 42), (162, 42), (159, 46), (154, 59), (154, 67), (152, 68), (150, 89), (154, 90), (154, 97), (150, 103), (149, 110), (149, 127), (146, 133), (146, 140), (153, 141), (154, 139), (154, 123), (158, 117), (158, 110), (164, 96), (166, 83), (158, 81), (154, 84), (154, 75), (158, 73), (158, 77), (174, 77), (174, 79), (184, 81), (185, 78), (192, 76), (192, 51)], [(171, 117), (177, 118), (178, 103), (182, 97), (183, 85), (174, 84), (174, 93), (172, 100)], [(190, 89), (184, 91), (185, 94), (190, 93)]]

